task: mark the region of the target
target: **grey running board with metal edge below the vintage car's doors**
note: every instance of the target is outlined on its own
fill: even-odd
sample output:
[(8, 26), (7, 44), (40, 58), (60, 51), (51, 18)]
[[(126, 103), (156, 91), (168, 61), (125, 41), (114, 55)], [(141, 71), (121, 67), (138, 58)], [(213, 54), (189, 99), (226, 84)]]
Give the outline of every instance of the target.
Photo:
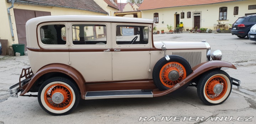
[(91, 91), (86, 92), (85, 100), (102, 99), (102, 98), (136, 98), (136, 97), (153, 97), (151, 91), (142, 90), (113, 90), (113, 91)]

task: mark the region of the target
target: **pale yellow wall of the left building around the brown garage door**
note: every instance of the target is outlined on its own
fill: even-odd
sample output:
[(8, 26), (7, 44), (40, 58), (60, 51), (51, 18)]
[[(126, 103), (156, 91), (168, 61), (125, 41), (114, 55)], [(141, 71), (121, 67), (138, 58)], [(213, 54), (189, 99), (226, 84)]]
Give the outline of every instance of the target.
[[(61, 8), (61, 7), (14, 4), (14, 7), (12, 9), (10, 9), (11, 21), (12, 21), (14, 39), (15, 39), (15, 41), (12, 41), (11, 30), (10, 30), (10, 26), (9, 26), (9, 19), (8, 19), (8, 14), (7, 14), (7, 8), (10, 6), (11, 6), (11, 4), (7, 3), (6, 0), (0, 0), (0, 15), (1, 15), (0, 37), (1, 37), (1, 39), (8, 40), (8, 46), (10, 46), (12, 44), (18, 44), (16, 22), (15, 22), (14, 11), (13, 11), (14, 8), (24, 9), (24, 10), (47, 11), (47, 12), (51, 12), (52, 16), (55, 16), (55, 15), (105, 15), (103, 13), (96, 13), (96, 12), (85, 11), (85, 10), (76, 10), (76, 9), (66, 9), (66, 8)], [(24, 30), (24, 32), (25, 32), (25, 30)]]

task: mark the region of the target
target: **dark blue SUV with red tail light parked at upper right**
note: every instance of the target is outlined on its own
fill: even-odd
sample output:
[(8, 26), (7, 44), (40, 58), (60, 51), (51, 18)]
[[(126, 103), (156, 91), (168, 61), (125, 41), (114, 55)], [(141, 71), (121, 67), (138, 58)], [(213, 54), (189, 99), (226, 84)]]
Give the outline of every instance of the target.
[(239, 38), (245, 38), (250, 31), (250, 28), (256, 24), (256, 15), (247, 15), (240, 17), (232, 24), (231, 34)]

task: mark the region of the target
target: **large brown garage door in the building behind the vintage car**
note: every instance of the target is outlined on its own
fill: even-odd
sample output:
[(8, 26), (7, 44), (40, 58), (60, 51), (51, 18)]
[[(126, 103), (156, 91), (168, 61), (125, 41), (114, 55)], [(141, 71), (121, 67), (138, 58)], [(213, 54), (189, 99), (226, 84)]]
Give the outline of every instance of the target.
[[(29, 19), (35, 18), (35, 17), (40, 17), (40, 16), (50, 16), (50, 15), (51, 15), (50, 12), (14, 9), (14, 17), (15, 17), (16, 28), (17, 28), (18, 43), (25, 44), (25, 46), (27, 46), (26, 22)], [(25, 51), (27, 51), (26, 47), (25, 47)]]

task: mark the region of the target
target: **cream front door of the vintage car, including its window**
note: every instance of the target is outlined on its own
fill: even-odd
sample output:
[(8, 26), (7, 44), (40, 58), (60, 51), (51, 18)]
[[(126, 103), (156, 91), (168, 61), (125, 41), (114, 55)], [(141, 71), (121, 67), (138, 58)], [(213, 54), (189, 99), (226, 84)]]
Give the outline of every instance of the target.
[(150, 24), (112, 23), (113, 80), (148, 79)]

